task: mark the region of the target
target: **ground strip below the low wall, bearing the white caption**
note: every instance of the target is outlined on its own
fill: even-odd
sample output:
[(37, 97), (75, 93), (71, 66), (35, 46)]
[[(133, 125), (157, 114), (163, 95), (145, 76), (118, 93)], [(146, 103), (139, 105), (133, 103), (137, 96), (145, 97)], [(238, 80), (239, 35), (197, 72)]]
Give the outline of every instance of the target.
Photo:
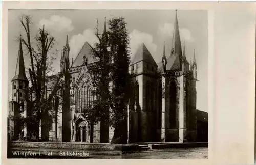
[[(35, 155), (13, 155), (13, 151), (32, 152)], [(60, 153), (66, 152), (66, 155)], [(67, 155), (67, 152), (84, 152), (82, 156)], [(46, 154), (47, 152), (47, 154)], [(59, 150), (59, 149), (12, 149), (8, 158), (47, 158), (47, 159), (207, 159), (208, 148), (172, 148), (172, 149), (149, 149), (135, 153), (121, 153), (121, 151), (84, 151), (84, 150)]]

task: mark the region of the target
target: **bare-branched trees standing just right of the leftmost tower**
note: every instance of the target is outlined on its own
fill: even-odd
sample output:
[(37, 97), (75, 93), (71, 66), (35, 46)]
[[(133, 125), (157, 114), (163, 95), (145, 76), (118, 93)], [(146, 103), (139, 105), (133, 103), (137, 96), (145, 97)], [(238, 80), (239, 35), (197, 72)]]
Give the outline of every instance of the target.
[(26, 37), (22, 39), (23, 44), (29, 52), (30, 68), (29, 76), (31, 82), (31, 93), (34, 94), (33, 100), (30, 102), (31, 114), (26, 118), (26, 121), (33, 125), (36, 133), (36, 139), (39, 139), (39, 123), (41, 123), (42, 141), (49, 140), (49, 123), (51, 123), (51, 115), (49, 115), (49, 108), (52, 107), (53, 98), (57, 91), (61, 88), (60, 79), (63, 72), (60, 71), (56, 75), (53, 89), (49, 96), (47, 94), (47, 74), (51, 71), (50, 51), (54, 46), (54, 37), (45, 30), (45, 26), (39, 28), (39, 33), (34, 37), (36, 44), (32, 45), (31, 40), (31, 18), (29, 15), (24, 15), (20, 20), (23, 29), (26, 32)]

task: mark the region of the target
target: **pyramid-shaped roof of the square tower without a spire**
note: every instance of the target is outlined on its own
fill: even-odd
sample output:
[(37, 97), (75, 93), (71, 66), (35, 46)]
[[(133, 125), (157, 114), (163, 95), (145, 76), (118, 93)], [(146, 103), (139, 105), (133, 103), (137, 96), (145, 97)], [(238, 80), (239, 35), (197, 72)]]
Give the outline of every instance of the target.
[(135, 64), (140, 61), (145, 61), (147, 63), (157, 66), (157, 63), (155, 62), (154, 58), (151, 56), (150, 51), (148, 51), (148, 49), (146, 48), (144, 43), (142, 43), (139, 46), (130, 65)]

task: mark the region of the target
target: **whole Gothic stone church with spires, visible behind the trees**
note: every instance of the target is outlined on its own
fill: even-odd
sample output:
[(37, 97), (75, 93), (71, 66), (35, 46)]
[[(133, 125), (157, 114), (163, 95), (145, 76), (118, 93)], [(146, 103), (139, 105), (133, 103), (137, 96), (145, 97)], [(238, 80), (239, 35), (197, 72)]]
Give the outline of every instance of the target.
[[(95, 99), (92, 95), (93, 80), (88, 72), (88, 65), (96, 62), (92, 54), (94, 50), (88, 42), (84, 43), (76, 58), (70, 63), (68, 41), (67, 36), (60, 61), (60, 70), (65, 71), (60, 81), (63, 88), (58, 94), (69, 100), (62, 100), (63, 104), (60, 104), (60, 97), (56, 96), (53, 100), (55, 110), (50, 111), (56, 111), (57, 122), (53, 122), (48, 128), (49, 141), (90, 142), (90, 135), (93, 134), (93, 142), (109, 143), (114, 134), (113, 128), (103, 122), (92, 126), (84, 116), (84, 111)], [(194, 61), (190, 61), (190, 64), (187, 61), (185, 43), (182, 51), (177, 14), (171, 53), (165, 54), (163, 45), (161, 56), (162, 61), (156, 63), (144, 43), (141, 43), (137, 52), (133, 54), (129, 65), (132, 95), (127, 107), (129, 142), (195, 142), (197, 63), (195, 51)], [(50, 82), (56, 77), (53, 75), (48, 79), (46, 96), (53, 90)], [(9, 114), (23, 117), (28, 114), (29, 109), (26, 105), (32, 100), (28, 93), (28, 85), (20, 42), (16, 72), (12, 79)], [(31, 136), (32, 126), (18, 125), (11, 119), (8, 120), (8, 126), (8, 134), (12, 140), (18, 136)]]

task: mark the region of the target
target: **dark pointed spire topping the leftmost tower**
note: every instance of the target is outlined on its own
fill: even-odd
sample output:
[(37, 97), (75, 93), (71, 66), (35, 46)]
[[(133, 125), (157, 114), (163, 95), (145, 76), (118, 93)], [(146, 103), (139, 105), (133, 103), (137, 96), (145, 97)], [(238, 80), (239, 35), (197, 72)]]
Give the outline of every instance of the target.
[(18, 58), (15, 70), (15, 76), (12, 80), (24, 80), (28, 81), (25, 72), (25, 64), (24, 64), (24, 57), (23, 57), (23, 50), (22, 50), (22, 35), (20, 35), (19, 39), (19, 50), (18, 50)]

